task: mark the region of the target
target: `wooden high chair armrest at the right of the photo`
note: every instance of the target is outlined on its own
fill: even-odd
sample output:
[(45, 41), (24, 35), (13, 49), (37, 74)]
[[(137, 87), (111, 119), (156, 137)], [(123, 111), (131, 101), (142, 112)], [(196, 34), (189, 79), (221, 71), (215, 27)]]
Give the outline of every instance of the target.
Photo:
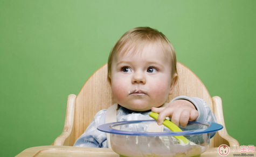
[[(229, 146), (239, 145), (238, 141), (233, 137), (229, 136), (229, 134), (227, 133), (225, 122), (224, 122), (224, 116), (223, 116), (222, 99), (219, 96), (213, 96), (212, 102), (213, 102), (212, 103), (213, 111), (216, 116), (217, 122), (223, 125), (223, 129), (219, 130), (216, 133), (216, 136), (220, 136), (223, 139), (225, 139), (229, 143)], [(219, 147), (220, 145), (225, 144), (225, 140), (218, 140), (218, 141), (215, 140), (215, 147)]]

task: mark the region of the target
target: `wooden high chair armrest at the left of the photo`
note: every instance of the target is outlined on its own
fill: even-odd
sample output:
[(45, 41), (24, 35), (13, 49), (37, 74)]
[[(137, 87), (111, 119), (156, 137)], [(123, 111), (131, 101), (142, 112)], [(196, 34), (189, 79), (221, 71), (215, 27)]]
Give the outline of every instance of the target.
[(64, 143), (68, 143), (67, 139), (71, 138), (69, 136), (73, 129), (76, 98), (77, 98), (77, 95), (74, 95), (74, 94), (70, 94), (67, 97), (67, 108), (66, 108), (64, 129), (63, 129), (63, 132), (60, 134), (60, 136), (58, 136), (54, 140), (54, 143), (53, 143), (54, 146), (63, 146)]

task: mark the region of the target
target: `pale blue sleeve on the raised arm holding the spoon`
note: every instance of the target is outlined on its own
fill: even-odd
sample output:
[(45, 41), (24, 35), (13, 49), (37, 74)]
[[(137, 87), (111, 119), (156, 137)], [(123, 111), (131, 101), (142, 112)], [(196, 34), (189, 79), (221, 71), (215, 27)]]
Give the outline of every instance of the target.
[[(179, 99), (188, 100), (195, 105), (195, 107), (198, 111), (197, 121), (217, 123), (217, 119), (216, 119), (215, 115), (212, 113), (210, 107), (203, 99), (182, 95), (182, 96), (178, 96), (178, 97), (172, 99), (170, 102), (179, 100)], [(215, 133), (216, 132), (212, 132), (210, 137), (212, 138), (213, 136), (215, 136)]]

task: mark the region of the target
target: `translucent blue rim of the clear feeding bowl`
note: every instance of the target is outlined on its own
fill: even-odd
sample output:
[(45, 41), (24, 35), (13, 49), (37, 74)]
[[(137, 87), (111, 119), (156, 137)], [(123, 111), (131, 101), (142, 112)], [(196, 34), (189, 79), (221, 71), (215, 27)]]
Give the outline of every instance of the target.
[(206, 125), (208, 126), (208, 128), (191, 130), (191, 131), (179, 131), (179, 132), (133, 132), (133, 131), (117, 130), (112, 128), (118, 125), (141, 123), (141, 122), (149, 123), (149, 122), (156, 122), (156, 121), (153, 119), (153, 120), (122, 121), (122, 122), (106, 123), (106, 124), (99, 125), (97, 129), (99, 131), (110, 133), (110, 134), (122, 134), (126, 136), (186, 136), (186, 135), (193, 135), (193, 134), (211, 133), (211, 132), (216, 132), (218, 130), (223, 129), (223, 126), (218, 123), (199, 122), (199, 121), (189, 121), (189, 123)]

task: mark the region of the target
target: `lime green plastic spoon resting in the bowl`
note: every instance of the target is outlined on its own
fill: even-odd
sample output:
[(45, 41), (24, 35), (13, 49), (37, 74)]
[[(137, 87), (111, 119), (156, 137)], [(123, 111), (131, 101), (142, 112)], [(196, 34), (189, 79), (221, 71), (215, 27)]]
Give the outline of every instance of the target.
[[(157, 118), (158, 118), (157, 113), (149, 113), (149, 116), (154, 118), (157, 121)], [(181, 129), (178, 128), (177, 125), (175, 125), (174, 123), (172, 123), (168, 119), (164, 119), (163, 125), (166, 126), (168, 129), (170, 129), (172, 132), (182, 131)], [(174, 138), (176, 138), (179, 141), (180, 144), (182, 144), (182, 143), (188, 144), (190, 142), (190, 140), (188, 140), (184, 136), (174, 136)]]

